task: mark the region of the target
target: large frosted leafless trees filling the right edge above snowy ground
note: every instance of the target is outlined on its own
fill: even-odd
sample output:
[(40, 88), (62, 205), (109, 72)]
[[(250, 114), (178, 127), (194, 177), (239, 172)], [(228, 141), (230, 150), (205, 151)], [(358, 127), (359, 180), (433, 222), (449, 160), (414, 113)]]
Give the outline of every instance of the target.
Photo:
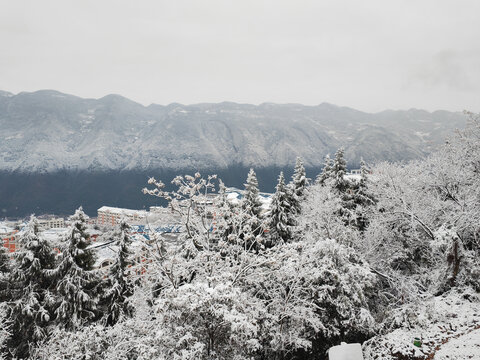
[(408, 302), (425, 291), (480, 289), (479, 140), (480, 121), (472, 117), (429, 158), (373, 169), (378, 202), (360, 251), (388, 275), (392, 296)]

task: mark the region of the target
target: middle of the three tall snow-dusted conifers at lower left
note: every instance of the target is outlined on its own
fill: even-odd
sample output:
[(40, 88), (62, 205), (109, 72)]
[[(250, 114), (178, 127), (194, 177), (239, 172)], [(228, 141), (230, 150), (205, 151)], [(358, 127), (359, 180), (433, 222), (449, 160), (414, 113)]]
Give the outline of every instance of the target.
[(101, 281), (93, 270), (94, 253), (88, 249), (87, 219), (81, 207), (70, 217), (72, 224), (64, 239), (62, 259), (52, 272), (58, 281), (56, 319), (66, 329), (76, 329), (96, 317)]

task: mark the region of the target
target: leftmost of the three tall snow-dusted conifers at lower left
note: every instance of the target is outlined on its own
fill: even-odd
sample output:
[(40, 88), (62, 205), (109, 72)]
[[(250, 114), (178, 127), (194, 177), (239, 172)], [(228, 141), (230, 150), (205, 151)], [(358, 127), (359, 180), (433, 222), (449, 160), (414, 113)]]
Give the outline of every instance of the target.
[(10, 277), (12, 287), (9, 322), (11, 336), (8, 348), (17, 358), (26, 358), (31, 346), (47, 336), (52, 294), (51, 269), (56, 254), (50, 244), (38, 235), (38, 221), (31, 217), (19, 239)]

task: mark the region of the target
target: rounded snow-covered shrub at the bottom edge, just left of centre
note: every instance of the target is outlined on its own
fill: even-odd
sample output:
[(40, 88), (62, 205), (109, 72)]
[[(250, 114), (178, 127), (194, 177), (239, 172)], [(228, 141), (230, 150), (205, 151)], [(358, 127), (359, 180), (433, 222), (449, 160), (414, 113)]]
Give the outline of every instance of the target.
[(262, 306), (229, 282), (169, 289), (155, 309), (169, 358), (247, 359), (259, 349)]

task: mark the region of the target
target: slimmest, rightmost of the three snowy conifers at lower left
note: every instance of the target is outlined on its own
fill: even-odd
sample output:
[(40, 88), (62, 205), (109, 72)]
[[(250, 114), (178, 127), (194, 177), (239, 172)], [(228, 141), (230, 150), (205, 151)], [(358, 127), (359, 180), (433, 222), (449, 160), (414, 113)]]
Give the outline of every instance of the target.
[(118, 253), (109, 269), (108, 287), (105, 293), (107, 325), (114, 325), (122, 317), (133, 314), (133, 306), (129, 298), (133, 295), (134, 282), (127, 274), (128, 267), (133, 264), (130, 249), (132, 238), (129, 230), (129, 225), (122, 219), (112, 235), (112, 240), (118, 247)]

